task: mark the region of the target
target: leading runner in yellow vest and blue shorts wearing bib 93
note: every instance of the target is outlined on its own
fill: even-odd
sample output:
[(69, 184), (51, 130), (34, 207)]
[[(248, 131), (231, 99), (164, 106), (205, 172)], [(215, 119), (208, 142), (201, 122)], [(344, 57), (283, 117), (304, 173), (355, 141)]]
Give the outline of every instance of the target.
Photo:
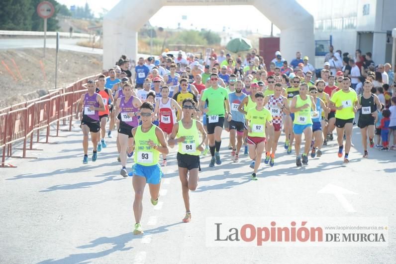
[(132, 185), (135, 191), (133, 201), (133, 213), (135, 215), (134, 235), (143, 234), (140, 224), (143, 213), (143, 192), (146, 183), (149, 185), (151, 204), (157, 205), (160, 195), (161, 178), (163, 176), (161, 166), (158, 164), (160, 152), (168, 154), (164, 133), (160, 128), (151, 123), (154, 117), (154, 106), (150, 102), (144, 102), (140, 107), (140, 120), (142, 125), (132, 130), (133, 142), (128, 151), (135, 150), (135, 164), (132, 166)]

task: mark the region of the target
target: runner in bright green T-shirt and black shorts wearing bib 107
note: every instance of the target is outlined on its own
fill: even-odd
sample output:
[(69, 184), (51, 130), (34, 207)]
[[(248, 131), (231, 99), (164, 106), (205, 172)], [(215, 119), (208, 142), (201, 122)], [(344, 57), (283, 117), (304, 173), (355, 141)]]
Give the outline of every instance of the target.
[[(228, 103), (228, 92), (225, 88), (218, 86), (218, 75), (210, 75), (211, 87), (204, 90), (199, 104), (199, 110), (206, 113), (206, 127), (209, 137), (209, 149), (212, 156), (209, 167), (214, 167), (214, 163), (221, 164), (220, 146), (221, 132), (223, 131), (224, 118), (231, 121), (230, 105)], [(204, 109), (205, 101), (207, 108)]]

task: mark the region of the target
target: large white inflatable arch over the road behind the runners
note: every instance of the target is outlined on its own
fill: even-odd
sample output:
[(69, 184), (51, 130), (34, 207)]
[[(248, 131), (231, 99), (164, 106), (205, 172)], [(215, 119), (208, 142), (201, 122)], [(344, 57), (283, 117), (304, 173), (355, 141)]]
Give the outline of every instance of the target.
[(166, 5), (253, 5), (281, 30), (282, 57), (292, 60), (300, 51), (314, 61), (313, 17), (296, 0), (120, 0), (103, 19), (103, 69), (121, 54), (136, 60), (137, 32)]

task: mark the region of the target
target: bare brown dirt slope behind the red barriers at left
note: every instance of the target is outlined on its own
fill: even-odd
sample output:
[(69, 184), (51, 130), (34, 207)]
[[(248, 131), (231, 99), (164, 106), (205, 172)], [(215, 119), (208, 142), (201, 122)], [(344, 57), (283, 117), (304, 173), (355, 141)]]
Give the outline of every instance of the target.
[[(101, 69), (101, 55), (61, 50), (58, 56), (57, 87), (65, 87), (83, 77), (98, 74)], [(0, 50), (0, 109), (43, 96), (54, 87), (55, 49), (47, 49), (45, 59), (41, 48)]]

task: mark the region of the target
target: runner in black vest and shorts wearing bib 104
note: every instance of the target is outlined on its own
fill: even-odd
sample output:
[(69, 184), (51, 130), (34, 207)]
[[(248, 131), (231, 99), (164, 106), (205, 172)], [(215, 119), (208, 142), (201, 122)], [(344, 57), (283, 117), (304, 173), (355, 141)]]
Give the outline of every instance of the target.
[(370, 147), (374, 147), (375, 119), (378, 116), (377, 108), (381, 111), (382, 105), (378, 97), (371, 93), (373, 84), (365, 81), (363, 84), (363, 94), (358, 97), (359, 120), (358, 127), (362, 134), (364, 148), (363, 157), (369, 157), (367, 151), (367, 134), (369, 134)]

